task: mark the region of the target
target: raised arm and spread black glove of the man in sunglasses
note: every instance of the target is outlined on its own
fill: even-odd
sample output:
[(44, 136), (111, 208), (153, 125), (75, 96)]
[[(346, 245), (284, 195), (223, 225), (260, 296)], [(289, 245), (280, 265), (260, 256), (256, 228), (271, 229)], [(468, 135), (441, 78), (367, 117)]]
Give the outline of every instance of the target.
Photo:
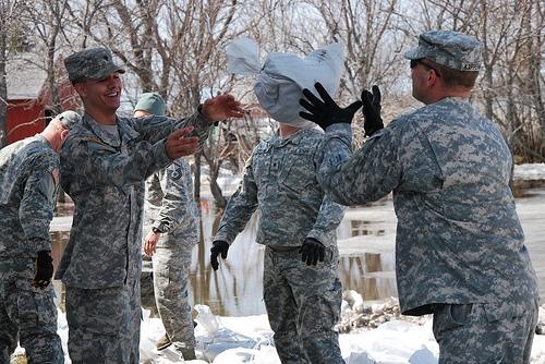
[[(360, 150), (352, 155), (351, 120), (358, 101), (342, 109), (322, 85), (316, 84), (320, 98), (308, 89), (301, 105), (307, 112), (301, 117), (325, 125), (324, 159), (318, 181), (334, 202), (361, 205), (379, 199), (400, 182), (399, 139), (396, 133), (374, 133)], [(366, 100), (368, 101), (368, 100)], [(361, 106), (361, 102), (360, 102)]]

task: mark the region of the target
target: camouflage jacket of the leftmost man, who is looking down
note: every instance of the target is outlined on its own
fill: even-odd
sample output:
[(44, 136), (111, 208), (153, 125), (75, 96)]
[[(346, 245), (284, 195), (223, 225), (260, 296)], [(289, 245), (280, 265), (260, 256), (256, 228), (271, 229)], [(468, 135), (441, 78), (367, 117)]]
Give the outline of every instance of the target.
[(51, 251), (58, 171), (59, 156), (41, 135), (0, 149), (0, 260), (35, 259), (39, 251)]

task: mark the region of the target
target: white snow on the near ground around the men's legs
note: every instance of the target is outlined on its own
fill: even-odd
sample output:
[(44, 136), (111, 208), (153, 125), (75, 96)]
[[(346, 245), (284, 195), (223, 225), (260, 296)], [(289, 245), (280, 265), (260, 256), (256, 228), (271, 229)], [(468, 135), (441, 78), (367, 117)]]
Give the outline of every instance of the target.
[[(352, 327), (348, 333), (340, 333), (339, 344), (347, 364), (437, 364), (439, 348), (432, 332), (431, 316), (399, 316), (396, 299), (368, 304), (354, 291), (346, 291), (344, 299), (348, 301), (343, 300), (341, 321)], [(267, 315), (219, 317), (205, 305), (195, 305), (195, 311), (199, 359), (185, 363), (281, 364), (272, 345)], [(370, 329), (374, 325), (368, 326), (368, 318), (377, 323), (376, 328)], [(540, 321), (545, 323), (545, 305), (540, 308)], [(66, 352), (68, 325), (60, 311), (58, 327)], [(174, 345), (157, 352), (155, 342), (164, 327), (159, 318), (149, 318), (149, 312), (144, 312), (141, 332), (141, 363), (184, 363)], [(17, 348), (15, 355), (23, 353), (24, 350)], [(71, 363), (68, 355), (65, 363)], [(544, 335), (534, 338), (531, 364), (545, 364)]]

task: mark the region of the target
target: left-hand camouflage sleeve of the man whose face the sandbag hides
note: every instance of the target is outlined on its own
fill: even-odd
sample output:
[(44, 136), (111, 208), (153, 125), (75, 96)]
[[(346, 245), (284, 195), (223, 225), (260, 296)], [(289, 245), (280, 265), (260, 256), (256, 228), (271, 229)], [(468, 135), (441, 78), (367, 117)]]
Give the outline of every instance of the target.
[(229, 198), (226, 211), (219, 222), (215, 240), (223, 240), (231, 244), (237, 235), (244, 230), (252, 214), (257, 208), (257, 185), (252, 169), (252, 158), (246, 163), (244, 175), (239, 189)]

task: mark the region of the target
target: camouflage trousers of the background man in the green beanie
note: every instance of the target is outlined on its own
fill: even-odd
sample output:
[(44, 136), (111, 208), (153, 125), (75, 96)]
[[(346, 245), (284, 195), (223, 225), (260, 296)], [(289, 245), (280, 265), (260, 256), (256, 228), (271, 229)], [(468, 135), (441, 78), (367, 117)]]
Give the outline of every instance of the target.
[(154, 254), (154, 290), (159, 316), (171, 341), (195, 348), (187, 279), (193, 245), (158, 247)]

